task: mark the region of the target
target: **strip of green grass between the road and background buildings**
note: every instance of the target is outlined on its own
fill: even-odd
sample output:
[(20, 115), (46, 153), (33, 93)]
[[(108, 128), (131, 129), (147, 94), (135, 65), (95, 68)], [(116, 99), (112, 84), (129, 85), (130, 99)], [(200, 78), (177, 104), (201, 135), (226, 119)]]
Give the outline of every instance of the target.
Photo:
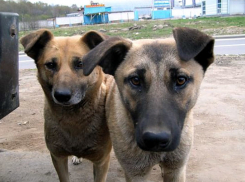
[[(124, 28), (129, 28), (137, 24), (141, 26), (141, 29), (123, 31)], [(153, 30), (154, 25), (164, 25), (162, 29)], [(145, 39), (145, 38), (163, 38), (172, 35), (172, 29), (174, 27), (190, 27), (196, 28), (206, 32), (209, 35), (222, 35), (222, 34), (234, 34), (234, 31), (224, 31), (224, 29), (231, 27), (244, 28), (242, 33), (245, 33), (245, 16), (239, 17), (203, 17), (197, 19), (177, 19), (177, 20), (148, 20), (137, 22), (125, 22), (125, 23), (112, 23), (112, 24), (99, 24), (99, 25), (81, 25), (76, 27), (61, 27), (56, 29), (50, 29), (54, 36), (72, 36), (83, 34), (89, 30), (106, 30), (106, 34), (109, 36), (120, 36), (130, 39)], [(111, 32), (117, 30), (116, 32)], [(27, 35), (31, 31), (19, 32), (19, 37)], [(22, 51), (23, 47), (20, 45), (19, 50)]]

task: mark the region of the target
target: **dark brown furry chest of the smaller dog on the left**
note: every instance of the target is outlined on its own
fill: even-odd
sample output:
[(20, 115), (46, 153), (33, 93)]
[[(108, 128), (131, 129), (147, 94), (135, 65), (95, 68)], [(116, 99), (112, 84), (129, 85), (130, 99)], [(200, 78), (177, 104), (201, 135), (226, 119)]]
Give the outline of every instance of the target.
[(53, 153), (87, 158), (98, 151), (107, 135), (103, 108), (45, 121), (45, 139)]

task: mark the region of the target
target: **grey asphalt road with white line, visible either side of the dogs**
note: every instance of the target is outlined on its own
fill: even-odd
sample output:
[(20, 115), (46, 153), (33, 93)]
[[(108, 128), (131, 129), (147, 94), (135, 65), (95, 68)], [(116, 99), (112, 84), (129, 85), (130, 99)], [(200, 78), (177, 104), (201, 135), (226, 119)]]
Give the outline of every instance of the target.
[[(216, 39), (214, 53), (221, 54), (245, 54), (245, 37)], [(19, 55), (19, 69), (36, 68), (34, 60), (25, 54)]]

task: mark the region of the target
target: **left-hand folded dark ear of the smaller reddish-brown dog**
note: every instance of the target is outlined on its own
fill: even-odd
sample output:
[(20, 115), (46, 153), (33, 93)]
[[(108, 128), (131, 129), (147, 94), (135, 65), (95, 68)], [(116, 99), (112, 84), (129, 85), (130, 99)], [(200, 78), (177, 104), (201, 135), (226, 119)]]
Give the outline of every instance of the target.
[(37, 30), (20, 39), (25, 53), (37, 62), (46, 44), (53, 38), (53, 34), (46, 29)]

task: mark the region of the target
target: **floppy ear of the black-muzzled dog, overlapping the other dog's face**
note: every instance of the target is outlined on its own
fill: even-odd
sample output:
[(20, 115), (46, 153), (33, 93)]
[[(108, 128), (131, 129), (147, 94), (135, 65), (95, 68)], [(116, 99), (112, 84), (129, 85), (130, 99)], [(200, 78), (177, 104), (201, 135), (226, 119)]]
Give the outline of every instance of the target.
[(119, 37), (103, 41), (83, 57), (84, 75), (89, 75), (96, 65), (100, 65), (105, 73), (114, 75), (131, 46), (131, 41)]

